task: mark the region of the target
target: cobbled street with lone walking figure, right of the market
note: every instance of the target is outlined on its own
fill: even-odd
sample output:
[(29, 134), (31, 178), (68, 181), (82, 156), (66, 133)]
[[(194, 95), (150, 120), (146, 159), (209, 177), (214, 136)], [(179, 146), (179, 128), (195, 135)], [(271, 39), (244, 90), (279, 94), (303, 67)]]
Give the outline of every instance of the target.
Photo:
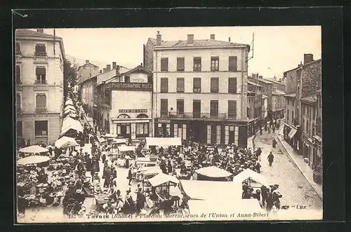
[[(254, 139), (255, 147), (262, 149), (261, 155), (261, 174), (264, 175), (272, 184), (279, 184), (279, 192), (283, 197), (282, 205), (306, 206), (307, 210), (322, 210), (322, 200), (312, 189), (310, 183), (300, 172), (298, 167), (291, 161), (289, 154), (286, 153), (284, 147), (277, 142), (277, 148), (272, 148), (272, 140), (277, 136), (275, 134), (263, 132), (263, 135), (257, 135)], [(272, 151), (274, 162), (272, 167), (269, 166), (267, 156)]]

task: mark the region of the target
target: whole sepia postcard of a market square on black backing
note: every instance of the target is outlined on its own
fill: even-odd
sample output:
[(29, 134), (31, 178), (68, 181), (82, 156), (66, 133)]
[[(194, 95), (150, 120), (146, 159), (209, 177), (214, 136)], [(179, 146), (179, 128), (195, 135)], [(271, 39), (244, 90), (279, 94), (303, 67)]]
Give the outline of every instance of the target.
[(15, 29), (18, 224), (322, 220), (322, 27)]

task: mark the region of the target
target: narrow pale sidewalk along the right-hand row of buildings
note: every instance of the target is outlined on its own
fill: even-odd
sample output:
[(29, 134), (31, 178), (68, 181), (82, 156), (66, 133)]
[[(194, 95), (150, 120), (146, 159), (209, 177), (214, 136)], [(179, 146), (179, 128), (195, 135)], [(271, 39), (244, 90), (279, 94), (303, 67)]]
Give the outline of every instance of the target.
[(310, 168), (310, 166), (303, 161), (303, 157), (298, 155), (296, 151), (293, 150), (293, 148), (286, 142), (284, 139), (280, 136), (277, 135), (277, 138), (279, 142), (282, 144), (284, 147), (286, 153), (289, 154), (291, 160), (295, 165), (298, 167), (300, 172), (303, 174), (303, 176), (307, 179), (307, 181), (310, 183), (314, 191), (318, 194), (319, 198), (323, 198), (322, 196), (322, 185), (317, 184), (316, 182), (313, 181), (313, 170)]

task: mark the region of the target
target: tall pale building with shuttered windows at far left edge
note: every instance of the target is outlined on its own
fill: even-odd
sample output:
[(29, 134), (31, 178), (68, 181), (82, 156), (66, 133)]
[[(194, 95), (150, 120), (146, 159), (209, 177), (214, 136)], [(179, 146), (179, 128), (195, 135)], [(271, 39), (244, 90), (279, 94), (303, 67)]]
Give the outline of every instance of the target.
[(62, 123), (63, 41), (44, 29), (16, 29), (15, 42), (17, 137), (53, 144)]

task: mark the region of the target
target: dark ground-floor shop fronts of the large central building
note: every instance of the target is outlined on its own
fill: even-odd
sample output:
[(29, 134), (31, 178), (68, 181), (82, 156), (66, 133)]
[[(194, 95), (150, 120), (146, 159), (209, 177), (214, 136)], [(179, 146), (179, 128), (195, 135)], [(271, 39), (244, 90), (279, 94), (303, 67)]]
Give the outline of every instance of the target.
[(154, 137), (181, 137), (201, 144), (247, 146), (248, 123), (231, 121), (171, 120), (156, 118)]

